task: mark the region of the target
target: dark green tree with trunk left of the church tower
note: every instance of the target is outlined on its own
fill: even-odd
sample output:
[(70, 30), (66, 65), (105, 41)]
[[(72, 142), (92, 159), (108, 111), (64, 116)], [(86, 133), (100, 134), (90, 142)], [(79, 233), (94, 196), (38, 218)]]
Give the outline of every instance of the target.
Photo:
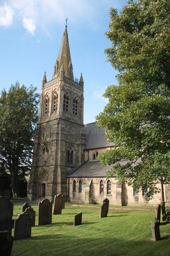
[(13, 197), (19, 196), (18, 174), (31, 167), (34, 130), (38, 121), (37, 88), (16, 82), (0, 97), (0, 162), (11, 175)]

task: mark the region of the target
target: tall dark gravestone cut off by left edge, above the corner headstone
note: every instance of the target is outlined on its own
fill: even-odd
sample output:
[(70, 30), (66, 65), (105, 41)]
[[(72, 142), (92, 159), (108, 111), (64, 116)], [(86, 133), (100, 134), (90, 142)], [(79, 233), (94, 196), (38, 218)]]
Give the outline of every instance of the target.
[(7, 197), (0, 197), (0, 231), (9, 231), (12, 234), (13, 205)]

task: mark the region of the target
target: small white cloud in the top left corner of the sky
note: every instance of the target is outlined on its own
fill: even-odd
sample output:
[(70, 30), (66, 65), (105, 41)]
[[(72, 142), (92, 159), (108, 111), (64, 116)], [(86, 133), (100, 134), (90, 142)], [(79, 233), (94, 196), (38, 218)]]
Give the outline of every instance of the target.
[(13, 20), (13, 14), (14, 13), (12, 9), (6, 4), (0, 6), (0, 25), (6, 27), (11, 25)]

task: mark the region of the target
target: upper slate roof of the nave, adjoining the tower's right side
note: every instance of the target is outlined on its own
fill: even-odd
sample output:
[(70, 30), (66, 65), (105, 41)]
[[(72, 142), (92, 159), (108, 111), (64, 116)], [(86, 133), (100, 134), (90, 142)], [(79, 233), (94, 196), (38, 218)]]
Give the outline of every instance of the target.
[(85, 149), (104, 148), (114, 146), (113, 142), (107, 142), (104, 128), (97, 128), (96, 123), (85, 125), (86, 146)]

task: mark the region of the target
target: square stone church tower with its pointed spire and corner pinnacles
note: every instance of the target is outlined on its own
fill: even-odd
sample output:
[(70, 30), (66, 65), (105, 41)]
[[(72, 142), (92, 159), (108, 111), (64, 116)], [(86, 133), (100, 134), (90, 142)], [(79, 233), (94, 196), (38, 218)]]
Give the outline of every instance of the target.
[(67, 172), (84, 161), (83, 86), (82, 74), (74, 81), (66, 25), (52, 80), (46, 73), (42, 79), (29, 200), (53, 200), (58, 193), (67, 199)]

